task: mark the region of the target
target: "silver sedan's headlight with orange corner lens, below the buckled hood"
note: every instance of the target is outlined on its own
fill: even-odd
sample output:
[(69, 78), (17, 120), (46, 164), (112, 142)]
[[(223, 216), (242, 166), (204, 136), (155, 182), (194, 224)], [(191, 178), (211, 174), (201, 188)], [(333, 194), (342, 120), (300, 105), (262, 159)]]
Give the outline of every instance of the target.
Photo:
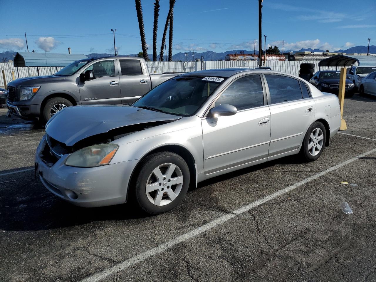
[(115, 144), (98, 144), (80, 149), (71, 154), (65, 165), (71, 167), (99, 167), (109, 164), (119, 146)]

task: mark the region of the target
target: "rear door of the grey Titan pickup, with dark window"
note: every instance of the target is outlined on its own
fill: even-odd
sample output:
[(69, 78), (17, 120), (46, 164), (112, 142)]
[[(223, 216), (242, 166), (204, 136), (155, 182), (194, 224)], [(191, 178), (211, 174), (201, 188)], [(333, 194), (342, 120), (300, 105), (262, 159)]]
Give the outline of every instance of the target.
[(118, 59), (120, 72), (121, 103), (135, 102), (151, 89), (149, 71), (137, 58)]

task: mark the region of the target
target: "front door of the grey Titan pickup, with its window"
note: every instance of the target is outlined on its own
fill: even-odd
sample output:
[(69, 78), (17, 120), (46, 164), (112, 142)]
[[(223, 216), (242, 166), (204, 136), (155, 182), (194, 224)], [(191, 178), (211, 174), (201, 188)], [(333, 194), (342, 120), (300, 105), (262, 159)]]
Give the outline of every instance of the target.
[[(82, 105), (120, 104), (120, 83), (117, 72), (117, 62), (114, 59), (97, 61), (82, 72), (94, 71), (94, 79), (82, 82), (79, 89)], [(116, 65), (116, 67), (115, 67)]]

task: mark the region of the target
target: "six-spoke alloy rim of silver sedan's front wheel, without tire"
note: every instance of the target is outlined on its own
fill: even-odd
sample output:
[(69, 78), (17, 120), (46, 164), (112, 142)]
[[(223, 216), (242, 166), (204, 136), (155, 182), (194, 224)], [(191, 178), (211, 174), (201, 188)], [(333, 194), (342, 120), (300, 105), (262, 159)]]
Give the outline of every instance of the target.
[(180, 168), (171, 163), (156, 167), (146, 182), (146, 196), (156, 206), (173, 202), (183, 186), (183, 174)]

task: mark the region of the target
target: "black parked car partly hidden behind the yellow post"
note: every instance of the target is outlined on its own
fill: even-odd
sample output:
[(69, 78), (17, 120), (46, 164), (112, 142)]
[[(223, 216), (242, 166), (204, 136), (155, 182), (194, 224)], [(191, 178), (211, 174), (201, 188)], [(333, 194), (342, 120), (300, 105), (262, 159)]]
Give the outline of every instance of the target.
[[(340, 88), (340, 71), (318, 71), (309, 80), (322, 92), (338, 94)], [(352, 97), (355, 94), (355, 85), (349, 79), (345, 82), (345, 97)]]

